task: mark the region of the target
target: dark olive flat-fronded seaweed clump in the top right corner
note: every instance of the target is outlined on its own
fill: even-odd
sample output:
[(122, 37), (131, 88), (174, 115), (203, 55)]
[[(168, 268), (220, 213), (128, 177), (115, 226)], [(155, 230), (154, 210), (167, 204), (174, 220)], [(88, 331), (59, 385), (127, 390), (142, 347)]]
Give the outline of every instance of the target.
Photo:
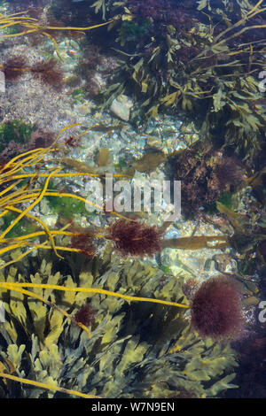
[[(266, 118), (253, 104), (263, 98), (257, 81), (264, 68), (262, 1), (240, 4), (235, 15), (227, 3), (219, 25), (212, 13), (208, 20), (205, 13), (188, 15), (184, 4), (126, 4), (121, 21), (113, 18), (122, 63), (103, 94), (104, 106), (126, 92), (141, 103), (133, 114), (136, 122), (155, 118), (158, 112), (186, 112), (198, 119), (202, 138), (231, 146), (241, 155), (257, 149)], [(138, 34), (145, 22), (145, 31)]]

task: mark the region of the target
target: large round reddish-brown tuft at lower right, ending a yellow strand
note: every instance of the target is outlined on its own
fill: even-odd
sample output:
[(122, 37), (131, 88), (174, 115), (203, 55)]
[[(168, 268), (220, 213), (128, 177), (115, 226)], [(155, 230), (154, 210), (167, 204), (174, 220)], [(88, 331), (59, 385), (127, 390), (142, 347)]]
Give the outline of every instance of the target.
[(237, 338), (243, 321), (236, 282), (219, 276), (201, 284), (192, 299), (192, 327), (202, 338)]

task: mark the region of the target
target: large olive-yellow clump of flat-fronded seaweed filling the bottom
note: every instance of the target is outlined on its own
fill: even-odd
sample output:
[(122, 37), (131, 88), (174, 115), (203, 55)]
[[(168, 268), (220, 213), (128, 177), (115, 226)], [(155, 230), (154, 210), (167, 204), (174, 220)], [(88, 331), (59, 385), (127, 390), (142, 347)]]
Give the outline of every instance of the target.
[[(39, 272), (30, 274), (36, 261), (28, 264), (28, 272), (21, 273), (19, 266), (1, 273), (6, 311), (1, 331), (2, 397), (170, 397), (184, 388), (195, 397), (215, 397), (236, 387), (231, 384), (237, 363), (230, 346), (202, 341), (190, 330), (185, 309), (129, 305), (126, 299), (105, 295), (127, 289), (132, 298), (153, 293), (165, 301), (181, 299), (182, 278), (166, 279), (152, 264), (136, 259), (117, 262), (109, 250), (84, 264), (80, 273), (76, 261), (68, 263), (72, 267), (65, 276), (57, 263), (45, 259)], [(49, 309), (48, 304), (29, 301), (26, 294), (12, 294), (17, 281), (39, 285), (39, 296), (47, 299)], [(10, 287), (4, 289), (3, 282)], [(55, 293), (51, 285), (59, 282), (73, 291)], [(90, 296), (92, 327), (92, 320), (80, 317), (88, 294), (76, 291), (77, 282), (79, 288), (102, 288), (102, 293)], [(90, 338), (81, 327), (66, 325), (70, 313), (84, 325), (89, 323)]]

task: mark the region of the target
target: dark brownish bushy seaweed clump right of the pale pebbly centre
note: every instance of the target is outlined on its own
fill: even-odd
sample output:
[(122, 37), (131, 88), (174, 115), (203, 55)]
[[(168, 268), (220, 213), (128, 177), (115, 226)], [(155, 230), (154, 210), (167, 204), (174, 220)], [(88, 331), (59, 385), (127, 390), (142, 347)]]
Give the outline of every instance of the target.
[(223, 156), (222, 151), (197, 142), (191, 149), (172, 153), (166, 173), (181, 181), (184, 215), (197, 216), (224, 193), (237, 189), (244, 179), (245, 168), (237, 158)]

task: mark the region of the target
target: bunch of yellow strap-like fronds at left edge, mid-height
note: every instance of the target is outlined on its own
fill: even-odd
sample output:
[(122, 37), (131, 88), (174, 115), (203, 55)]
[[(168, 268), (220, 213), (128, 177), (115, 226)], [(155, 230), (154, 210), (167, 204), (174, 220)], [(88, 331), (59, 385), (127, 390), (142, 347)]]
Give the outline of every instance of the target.
[[(74, 125), (64, 127), (60, 132), (65, 131), (66, 128), (73, 127)], [(23, 248), (27, 246), (31, 246), (30, 249), (24, 251), (20, 255), (20, 259), (25, 257), (29, 252), (34, 250), (34, 247), (38, 245), (33, 243), (33, 240), (40, 236), (46, 235), (47, 240), (41, 244), (42, 248), (45, 247), (46, 249), (54, 250), (55, 254), (62, 258), (58, 253), (58, 248), (54, 242), (54, 235), (66, 235), (66, 231), (64, 230), (50, 230), (49, 227), (40, 220), (35, 215), (31, 214), (32, 210), (38, 205), (44, 196), (69, 196), (77, 200), (82, 200), (84, 203), (90, 203), (82, 196), (76, 196), (70, 193), (60, 193), (57, 190), (50, 190), (49, 183), (51, 178), (54, 177), (67, 177), (70, 174), (68, 173), (59, 173), (62, 169), (61, 166), (55, 167), (51, 170), (51, 172), (45, 172), (45, 166), (43, 164), (43, 158), (51, 155), (53, 152), (58, 151), (59, 149), (54, 147), (59, 140), (59, 135), (57, 136), (53, 146), (48, 148), (40, 148), (35, 150), (28, 150), (25, 153), (22, 153), (14, 158), (12, 158), (9, 162), (5, 163), (3, 166), (0, 167), (0, 217), (4, 217), (9, 212), (14, 212), (17, 217), (12, 220), (11, 224), (2, 230), (0, 234), (0, 255), (3, 255), (6, 252), (16, 250), (18, 248)], [(35, 172), (33, 173), (26, 173), (26, 168), (35, 168)], [(73, 176), (78, 175), (78, 173), (72, 173)], [(90, 173), (81, 173), (82, 176), (91, 176)], [(37, 188), (36, 182), (44, 179), (43, 186)], [(28, 180), (27, 185), (20, 186), (22, 180)], [(90, 203), (96, 206), (93, 203)], [(100, 207), (98, 207), (100, 208)], [(14, 238), (8, 238), (8, 234), (12, 231), (12, 229), (20, 223), (20, 220), (23, 218), (27, 218), (31, 221), (35, 221), (36, 225), (41, 226), (42, 230), (38, 230), (31, 234), (20, 235)], [(69, 235), (76, 235), (76, 233), (69, 233)], [(78, 249), (74, 248), (60, 248), (60, 250), (72, 250), (72, 251), (79, 251)], [(11, 264), (14, 262), (8, 262)], [(4, 268), (7, 266), (5, 263), (1, 266)]]

